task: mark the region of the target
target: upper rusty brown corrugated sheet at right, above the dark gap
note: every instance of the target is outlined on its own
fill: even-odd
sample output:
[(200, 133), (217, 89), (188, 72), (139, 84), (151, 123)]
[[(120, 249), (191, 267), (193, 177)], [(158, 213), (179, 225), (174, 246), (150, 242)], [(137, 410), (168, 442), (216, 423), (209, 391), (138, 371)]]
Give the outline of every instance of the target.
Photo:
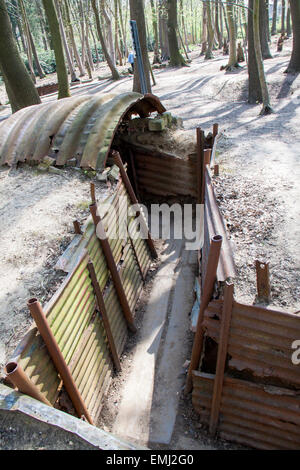
[[(205, 311), (206, 334), (219, 341), (222, 302)], [(299, 366), (292, 363), (295, 338), (300, 338), (300, 316), (253, 305), (233, 303), (228, 342), (228, 367), (300, 389)]]

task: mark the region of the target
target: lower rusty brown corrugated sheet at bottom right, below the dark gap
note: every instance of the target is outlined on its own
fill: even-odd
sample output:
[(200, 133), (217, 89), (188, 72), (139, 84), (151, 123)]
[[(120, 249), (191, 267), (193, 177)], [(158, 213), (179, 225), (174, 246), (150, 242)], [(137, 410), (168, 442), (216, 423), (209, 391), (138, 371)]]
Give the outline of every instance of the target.
[[(208, 424), (214, 375), (193, 372), (193, 406)], [(224, 378), (219, 435), (259, 449), (300, 446), (299, 393), (280, 387)]]

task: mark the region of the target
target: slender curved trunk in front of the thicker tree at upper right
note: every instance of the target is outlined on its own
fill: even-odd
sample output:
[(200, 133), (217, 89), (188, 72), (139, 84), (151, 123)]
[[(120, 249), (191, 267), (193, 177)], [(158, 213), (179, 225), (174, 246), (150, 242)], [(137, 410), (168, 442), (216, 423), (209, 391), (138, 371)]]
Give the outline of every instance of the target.
[(261, 53), (261, 45), (260, 45), (260, 35), (259, 35), (259, 7), (260, 0), (254, 0), (253, 6), (253, 38), (254, 38), (254, 50), (255, 50), (255, 57), (258, 67), (258, 76), (259, 82), (261, 86), (262, 92), (262, 102), (263, 107), (260, 112), (261, 115), (270, 114), (272, 112), (272, 108), (270, 105), (270, 98), (269, 98), (269, 91), (265, 77), (264, 71), (264, 63)]

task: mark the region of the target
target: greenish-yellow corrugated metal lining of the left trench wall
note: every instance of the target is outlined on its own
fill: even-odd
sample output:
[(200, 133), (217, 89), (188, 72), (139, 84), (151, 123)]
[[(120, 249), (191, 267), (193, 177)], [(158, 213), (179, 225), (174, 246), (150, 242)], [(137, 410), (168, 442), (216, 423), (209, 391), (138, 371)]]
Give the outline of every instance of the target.
[[(129, 198), (122, 181), (117, 184), (115, 192), (102, 202), (108, 201), (114, 207), (118, 206), (120, 212), (126, 210)], [(151, 263), (148, 245), (143, 239), (133, 240), (131, 243), (129, 239), (110, 238), (116, 220), (111, 218), (111, 211), (107, 211), (107, 208), (106, 213), (103, 213), (101, 204), (99, 210), (102, 212), (115, 262), (119, 265), (128, 303), (134, 313), (143, 287), (143, 276)], [(106, 393), (113, 374), (113, 363), (104, 325), (96, 311), (94, 290), (87, 268), (89, 259), (94, 264), (100, 289), (104, 293), (107, 316), (119, 355), (122, 354), (127, 339), (127, 322), (94, 224), (89, 221), (83, 234), (76, 235), (75, 243), (71, 245), (72, 249), (67, 250), (68, 254), (64, 254), (59, 263), (68, 275), (44, 307), (44, 312), (89, 413), (96, 421), (102, 407), (101, 398)], [(13, 360), (22, 366), (41, 393), (54, 404), (62, 383), (36, 328), (32, 327), (24, 337)]]

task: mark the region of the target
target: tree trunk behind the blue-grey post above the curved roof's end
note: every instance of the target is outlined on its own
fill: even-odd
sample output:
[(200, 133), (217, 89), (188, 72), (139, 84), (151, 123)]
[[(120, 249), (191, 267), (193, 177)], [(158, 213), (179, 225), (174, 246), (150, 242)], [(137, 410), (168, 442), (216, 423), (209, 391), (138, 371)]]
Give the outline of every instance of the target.
[[(129, 0), (130, 19), (136, 21), (145, 72), (147, 93), (151, 93), (150, 62), (147, 51), (146, 23), (143, 0)], [(141, 84), (136, 60), (134, 61), (133, 91), (141, 93)]]

